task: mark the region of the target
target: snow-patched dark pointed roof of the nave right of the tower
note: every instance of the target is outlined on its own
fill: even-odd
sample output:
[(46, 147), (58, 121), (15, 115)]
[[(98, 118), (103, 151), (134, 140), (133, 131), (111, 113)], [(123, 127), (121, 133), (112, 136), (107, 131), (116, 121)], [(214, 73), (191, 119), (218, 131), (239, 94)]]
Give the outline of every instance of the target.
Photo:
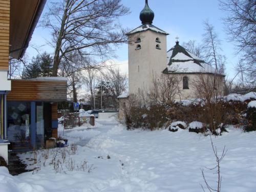
[[(167, 51), (167, 68), (163, 73), (216, 73), (203, 59), (190, 53), (176, 42), (176, 45)], [(222, 75), (222, 74), (220, 74)]]

